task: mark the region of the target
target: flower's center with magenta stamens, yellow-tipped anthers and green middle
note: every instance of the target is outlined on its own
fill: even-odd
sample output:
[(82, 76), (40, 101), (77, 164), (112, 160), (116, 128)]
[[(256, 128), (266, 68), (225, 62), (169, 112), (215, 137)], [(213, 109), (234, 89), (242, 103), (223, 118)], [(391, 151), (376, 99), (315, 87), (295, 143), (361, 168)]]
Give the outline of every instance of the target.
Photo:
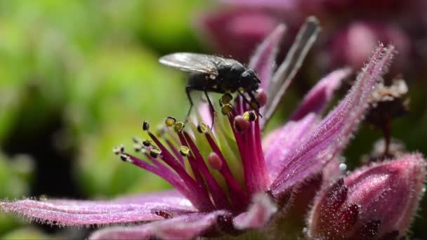
[[(133, 138), (143, 159), (114, 148), (120, 159), (164, 178), (199, 211), (247, 209), (251, 196), (268, 190), (269, 179), (261, 147), (258, 105), (232, 95), (220, 99), (221, 114), (197, 113), (186, 123), (168, 116), (157, 134), (143, 122), (150, 140)], [(252, 109), (252, 110), (251, 110)], [(209, 128), (203, 119), (215, 119)], [(211, 120), (212, 121), (212, 120)], [(195, 124), (197, 122), (197, 124)]]

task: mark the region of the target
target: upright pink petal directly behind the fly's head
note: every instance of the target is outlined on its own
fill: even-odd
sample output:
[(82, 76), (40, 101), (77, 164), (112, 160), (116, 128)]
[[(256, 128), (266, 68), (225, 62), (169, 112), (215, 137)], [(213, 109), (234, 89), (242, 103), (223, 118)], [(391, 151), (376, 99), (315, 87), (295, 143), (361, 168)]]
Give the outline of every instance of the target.
[(267, 38), (256, 48), (254, 55), (249, 61), (249, 68), (254, 69), (261, 79), (261, 88), (268, 89), (268, 83), (275, 69), (275, 59), (278, 46), (286, 26), (278, 25)]

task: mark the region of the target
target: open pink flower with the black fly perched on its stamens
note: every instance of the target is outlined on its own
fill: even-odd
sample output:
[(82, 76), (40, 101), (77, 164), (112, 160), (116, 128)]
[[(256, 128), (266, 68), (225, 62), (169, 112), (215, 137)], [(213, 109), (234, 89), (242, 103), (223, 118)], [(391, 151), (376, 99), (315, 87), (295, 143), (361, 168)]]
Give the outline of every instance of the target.
[[(225, 94), (220, 99), (222, 114), (215, 115), (213, 131), (202, 122), (210, 122), (209, 112), (198, 114), (187, 124), (169, 116), (164, 122), (166, 128), (157, 135), (147, 121), (143, 122), (143, 131), (150, 139), (134, 139), (140, 157), (129, 154), (124, 147), (114, 149), (121, 160), (159, 175), (174, 190), (112, 201), (25, 199), (2, 202), (1, 208), (59, 225), (137, 224), (101, 229), (91, 239), (191, 239), (245, 234), (250, 229), (257, 231), (249, 234), (282, 231), (278, 219), (286, 218), (294, 191), (321, 173), (324, 166), (336, 162), (367, 111), (369, 96), (394, 52), (393, 46), (376, 48), (346, 98), (322, 118), (334, 90), (350, 72), (339, 69), (325, 76), (287, 124), (261, 142), (261, 129), (317, 32), (315, 20), (308, 20), (289, 52), (291, 60), (285, 60), (277, 71), (275, 54), (284, 26), (275, 27), (256, 50), (249, 67), (258, 72), (265, 89), (257, 94), (263, 118), (241, 97), (231, 104), (232, 96)], [(324, 171), (323, 175), (328, 180), (327, 176), (335, 174)], [(140, 222), (148, 223), (138, 225)]]

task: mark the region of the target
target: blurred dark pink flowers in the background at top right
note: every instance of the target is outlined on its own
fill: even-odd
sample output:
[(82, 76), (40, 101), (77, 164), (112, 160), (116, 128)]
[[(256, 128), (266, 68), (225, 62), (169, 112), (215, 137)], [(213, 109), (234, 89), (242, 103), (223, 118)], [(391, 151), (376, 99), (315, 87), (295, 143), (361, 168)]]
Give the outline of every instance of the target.
[[(349, 65), (358, 69), (379, 41), (393, 43), (399, 51), (401, 60), (393, 63), (393, 72), (405, 67), (412, 67), (413, 71), (414, 65), (422, 66), (420, 63), (427, 60), (423, 44), (427, 38), (427, 18), (423, 11), (427, 2), (423, 0), (221, 2), (228, 8), (199, 15), (197, 27), (224, 55), (247, 59), (248, 50), (253, 49), (277, 22), (285, 22), (289, 35), (294, 36), (301, 22), (315, 15), (326, 32), (320, 40), (322, 58), (317, 55), (321, 67)], [(290, 43), (284, 41), (284, 46)]]

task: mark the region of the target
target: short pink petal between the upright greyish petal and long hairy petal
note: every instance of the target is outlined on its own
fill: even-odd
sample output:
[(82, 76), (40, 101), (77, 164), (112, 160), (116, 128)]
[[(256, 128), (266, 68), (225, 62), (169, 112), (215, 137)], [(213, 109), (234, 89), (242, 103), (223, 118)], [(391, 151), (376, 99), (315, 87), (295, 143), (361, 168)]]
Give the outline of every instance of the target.
[(306, 114), (310, 112), (322, 114), (331, 101), (336, 88), (341, 86), (341, 81), (349, 76), (350, 73), (351, 70), (348, 68), (338, 69), (321, 79), (310, 92), (308, 92), (303, 102), (301, 102), (291, 116), (291, 120), (296, 121), (302, 119), (303, 116), (306, 116)]

